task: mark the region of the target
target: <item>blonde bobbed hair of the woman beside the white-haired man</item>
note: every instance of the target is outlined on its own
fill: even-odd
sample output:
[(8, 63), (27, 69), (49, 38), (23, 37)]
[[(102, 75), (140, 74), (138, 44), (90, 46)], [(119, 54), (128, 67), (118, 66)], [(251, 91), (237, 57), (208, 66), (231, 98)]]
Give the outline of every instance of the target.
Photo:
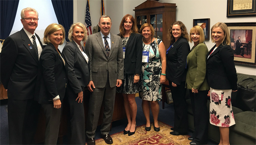
[(50, 44), (50, 39), (49, 36), (50, 34), (58, 31), (58, 30), (62, 30), (63, 33), (63, 39), (60, 42), (60, 45), (63, 44), (64, 40), (65, 40), (65, 29), (62, 25), (57, 24), (57, 23), (52, 23), (49, 26), (46, 27), (46, 30), (44, 30), (44, 43), (45, 44)]

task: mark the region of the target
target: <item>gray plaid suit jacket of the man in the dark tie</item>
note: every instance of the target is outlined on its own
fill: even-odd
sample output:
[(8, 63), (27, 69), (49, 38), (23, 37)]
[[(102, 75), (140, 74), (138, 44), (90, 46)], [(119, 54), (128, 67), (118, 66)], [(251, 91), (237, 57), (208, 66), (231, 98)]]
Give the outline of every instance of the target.
[(88, 50), (90, 63), (90, 81), (96, 88), (103, 88), (109, 76), (110, 87), (116, 86), (117, 79), (124, 79), (124, 59), (121, 37), (110, 33), (111, 48), (109, 56), (103, 44), (101, 32), (88, 36), (85, 49)]

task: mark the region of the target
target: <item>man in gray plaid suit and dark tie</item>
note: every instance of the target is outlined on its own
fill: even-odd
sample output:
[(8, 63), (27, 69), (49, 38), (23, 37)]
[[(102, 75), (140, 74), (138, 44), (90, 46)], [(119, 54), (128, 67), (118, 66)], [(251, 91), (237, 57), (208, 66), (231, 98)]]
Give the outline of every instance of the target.
[(87, 116), (88, 145), (95, 145), (101, 105), (104, 105), (101, 135), (106, 143), (113, 143), (109, 135), (113, 115), (116, 87), (120, 87), (124, 78), (124, 59), (121, 38), (110, 33), (111, 19), (102, 15), (99, 19), (101, 31), (88, 36), (85, 49), (88, 50), (90, 66), (90, 83), (88, 89), (92, 92), (89, 100)]

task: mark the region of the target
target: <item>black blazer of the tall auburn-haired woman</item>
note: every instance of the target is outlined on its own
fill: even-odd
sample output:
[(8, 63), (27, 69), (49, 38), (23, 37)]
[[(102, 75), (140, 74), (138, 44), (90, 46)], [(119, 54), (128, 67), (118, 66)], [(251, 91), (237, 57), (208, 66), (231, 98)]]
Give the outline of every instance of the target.
[[(118, 34), (120, 36), (120, 34)], [(142, 66), (142, 36), (131, 33), (126, 44), (124, 56), (124, 71), (127, 74), (141, 73)]]

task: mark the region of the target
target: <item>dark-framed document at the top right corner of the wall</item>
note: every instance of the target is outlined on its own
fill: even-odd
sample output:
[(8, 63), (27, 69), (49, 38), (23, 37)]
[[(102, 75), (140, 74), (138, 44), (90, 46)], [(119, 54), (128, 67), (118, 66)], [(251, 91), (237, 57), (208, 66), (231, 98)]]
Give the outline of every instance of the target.
[(255, 0), (227, 0), (227, 17), (256, 16)]

